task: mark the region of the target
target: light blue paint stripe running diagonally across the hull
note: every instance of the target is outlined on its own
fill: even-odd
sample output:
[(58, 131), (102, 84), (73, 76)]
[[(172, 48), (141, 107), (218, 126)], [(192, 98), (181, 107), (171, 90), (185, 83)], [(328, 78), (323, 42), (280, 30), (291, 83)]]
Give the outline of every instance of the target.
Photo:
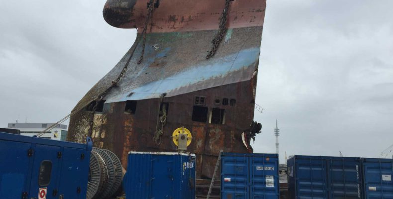
[[(164, 50), (168, 52), (170, 49)], [(207, 89), (240, 81), (246, 81), (252, 78), (252, 73), (249, 74), (240, 72), (238, 75), (236, 75), (236, 79), (226, 77), (230, 73), (236, 73), (236, 71), (241, 71), (247, 69), (248, 67), (253, 67), (253, 63), (257, 62), (257, 60), (259, 59), (259, 53), (259, 48), (250, 48), (241, 50), (238, 53), (233, 53), (222, 58), (206, 60), (200, 65), (190, 66), (188, 69), (183, 70), (170, 77), (153, 81), (139, 87), (129, 88), (127, 92), (113, 97), (109, 97), (106, 103), (158, 98), (162, 93), (167, 93), (167, 96), (169, 97), (196, 90)], [(209, 79), (217, 80), (211, 82), (206, 81)], [(220, 81), (219, 79), (222, 80)], [(203, 84), (201, 84), (199, 88), (193, 88), (192, 91), (185, 89), (181, 92), (171, 93), (171, 91), (197, 84), (199, 82), (203, 82)], [(134, 92), (135, 94), (131, 97), (127, 97), (127, 95), (131, 92)]]

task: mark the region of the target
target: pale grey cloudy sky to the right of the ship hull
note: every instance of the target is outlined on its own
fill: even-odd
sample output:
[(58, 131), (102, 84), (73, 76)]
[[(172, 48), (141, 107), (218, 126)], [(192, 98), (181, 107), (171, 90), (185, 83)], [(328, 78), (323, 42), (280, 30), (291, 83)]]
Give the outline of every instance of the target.
[(268, 1), (256, 152), (378, 157), (393, 143), (393, 2)]

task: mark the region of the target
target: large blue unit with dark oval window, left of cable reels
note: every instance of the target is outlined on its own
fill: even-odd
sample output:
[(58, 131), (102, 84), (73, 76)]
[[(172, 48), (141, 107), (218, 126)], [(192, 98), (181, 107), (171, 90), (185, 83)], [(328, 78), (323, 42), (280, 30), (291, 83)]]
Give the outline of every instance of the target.
[(91, 150), (90, 138), (77, 144), (0, 133), (0, 199), (86, 199)]

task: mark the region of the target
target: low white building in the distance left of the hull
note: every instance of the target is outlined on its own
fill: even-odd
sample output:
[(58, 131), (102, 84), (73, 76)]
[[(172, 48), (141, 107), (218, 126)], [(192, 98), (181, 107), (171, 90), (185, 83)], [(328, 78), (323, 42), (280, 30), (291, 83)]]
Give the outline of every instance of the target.
[[(8, 128), (19, 129), (20, 135), (32, 137), (52, 125), (53, 125), (53, 123), (52, 124), (50, 124), (50, 123), (35, 123), (35, 124), (34, 123), (10, 123), (10, 124), (8, 124)], [(58, 124), (56, 127), (49, 130), (48, 132), (44, 133), (40, 137), (46, 138), (46, 139), (66, 141), (67, 125)]]

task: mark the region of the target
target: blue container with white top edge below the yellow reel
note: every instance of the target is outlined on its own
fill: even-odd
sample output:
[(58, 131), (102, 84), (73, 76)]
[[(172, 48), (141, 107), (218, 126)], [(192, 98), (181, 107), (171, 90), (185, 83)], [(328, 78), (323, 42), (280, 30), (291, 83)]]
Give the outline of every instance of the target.
[(195, 199), (195, 155), (130, 152), (123, 186), (127, 199)]

